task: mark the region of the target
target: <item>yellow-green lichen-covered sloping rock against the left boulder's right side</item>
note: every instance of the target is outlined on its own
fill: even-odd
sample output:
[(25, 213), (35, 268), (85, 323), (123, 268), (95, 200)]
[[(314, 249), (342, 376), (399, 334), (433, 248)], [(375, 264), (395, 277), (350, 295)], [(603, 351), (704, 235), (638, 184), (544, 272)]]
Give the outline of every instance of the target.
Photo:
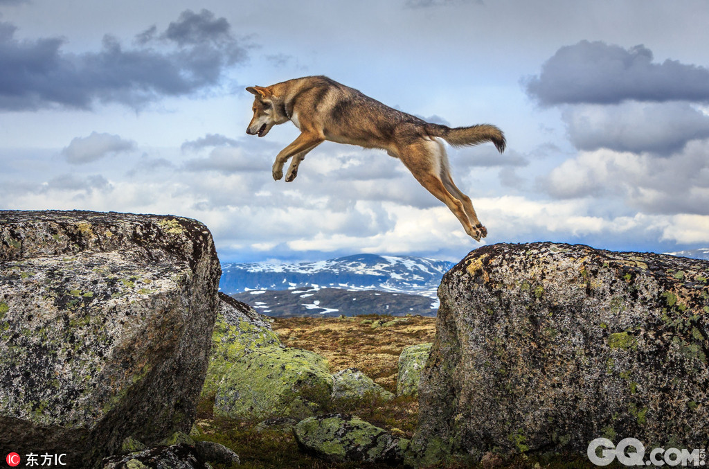
[(329, 401), (333, 377), (325, 358), (284, 347), (251, 307), (226, 295), (220, 298), (203, 390), (203, 396), (214, 396), (215, 414), (248, 420), (303, 419)]

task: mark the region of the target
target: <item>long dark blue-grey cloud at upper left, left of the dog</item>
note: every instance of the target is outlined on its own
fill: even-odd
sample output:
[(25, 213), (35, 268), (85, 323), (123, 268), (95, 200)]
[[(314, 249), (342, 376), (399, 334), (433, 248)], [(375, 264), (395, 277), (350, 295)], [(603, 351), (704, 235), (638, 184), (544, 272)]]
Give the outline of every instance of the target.
[(160, 35), (153, 26), (130, 49), (106, 35), (99, 52), (64, 53), (60, 38), (18, 40), (15, 32), (0, 23), (0, 110), (6, 111), (91, 109), (96, 102), (140, 109), (215, 87), (228, 67), (246, 59), (229, 23), (207, 10), (184, 11)]

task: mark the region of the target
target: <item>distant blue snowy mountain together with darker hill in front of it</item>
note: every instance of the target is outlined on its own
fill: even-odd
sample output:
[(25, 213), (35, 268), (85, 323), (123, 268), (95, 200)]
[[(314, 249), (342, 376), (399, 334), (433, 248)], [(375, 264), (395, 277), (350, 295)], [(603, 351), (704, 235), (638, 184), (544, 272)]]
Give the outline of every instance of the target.
[(453, 263), (358, 254), (314, 263), (224, 263), (220, 290), (269, 316), (422, 314)]

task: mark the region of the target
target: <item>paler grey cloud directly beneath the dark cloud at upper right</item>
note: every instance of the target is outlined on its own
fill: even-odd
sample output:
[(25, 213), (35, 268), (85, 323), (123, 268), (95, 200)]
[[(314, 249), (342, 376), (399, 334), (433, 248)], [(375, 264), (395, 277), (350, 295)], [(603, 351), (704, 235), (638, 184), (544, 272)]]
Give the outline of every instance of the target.
[(709, 116), (683, 102), (569, 106), (562, 119), (579, 150), (670, 155), (690, 140), (709, 137)]

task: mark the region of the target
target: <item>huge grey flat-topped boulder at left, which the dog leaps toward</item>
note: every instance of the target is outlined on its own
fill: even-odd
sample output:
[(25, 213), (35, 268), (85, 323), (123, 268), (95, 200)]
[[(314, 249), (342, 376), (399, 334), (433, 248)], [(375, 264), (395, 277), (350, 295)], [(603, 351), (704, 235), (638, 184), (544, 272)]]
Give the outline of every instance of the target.
[(189, 431), (219, 275), (198, 221), (0, 211), (0, 447), (91, 468)]

